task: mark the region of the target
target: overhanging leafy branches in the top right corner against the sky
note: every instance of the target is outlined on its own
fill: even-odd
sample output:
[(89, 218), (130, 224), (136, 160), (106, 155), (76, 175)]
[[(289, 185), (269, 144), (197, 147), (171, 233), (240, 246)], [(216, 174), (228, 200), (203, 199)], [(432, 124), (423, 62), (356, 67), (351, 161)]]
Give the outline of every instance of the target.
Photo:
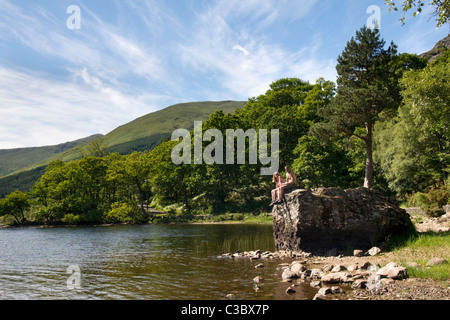
[[(399, 7), (396, 2), (398, 3), (399, 1), (385, 0), (385, 2), (389, 6), (389, 11), (398, 11)], [(434, 7), (433, 16), (436, 18), (437, 27), (444, 26), (450, 17), (450, 0), (432, 0), (429, 5)], [(402, 24), (405, 24), (406, 12), (413, 10), (413, 16), (415, 17), (423, 11), (422, 8), (424, 6), (425, 2), (423, 0), (403, 0), (401, 4), (403, 16), (400, 19)]]

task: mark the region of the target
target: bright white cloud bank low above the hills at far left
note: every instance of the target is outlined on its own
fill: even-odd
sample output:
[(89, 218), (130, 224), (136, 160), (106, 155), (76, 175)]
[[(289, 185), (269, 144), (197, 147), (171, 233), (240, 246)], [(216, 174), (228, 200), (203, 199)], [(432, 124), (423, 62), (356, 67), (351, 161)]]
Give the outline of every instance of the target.
[(76, 77), (83, 83), (0, 67), (0, 149), (39, 146), (42, 141), (58, 144), (107, 133), (155, 111), (151, 106), (164, 100), (157, 95), (124, 95), (86, 69)]

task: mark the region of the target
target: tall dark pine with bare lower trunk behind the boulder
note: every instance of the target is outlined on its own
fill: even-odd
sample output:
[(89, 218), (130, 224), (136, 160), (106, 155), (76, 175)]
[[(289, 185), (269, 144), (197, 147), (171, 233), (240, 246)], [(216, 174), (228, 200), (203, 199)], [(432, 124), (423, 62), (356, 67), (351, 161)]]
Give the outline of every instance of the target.
[(396, 46), (385, 49), (377, 29), (364, 26), (338, 57), (337, 94), (322, 110), (325, 122), (314, 131), (355, 136), (365, 143), (364, 186), (373, 184), (373, 125), (383, 111), (395, 110), (400, 101), (395, 71)]

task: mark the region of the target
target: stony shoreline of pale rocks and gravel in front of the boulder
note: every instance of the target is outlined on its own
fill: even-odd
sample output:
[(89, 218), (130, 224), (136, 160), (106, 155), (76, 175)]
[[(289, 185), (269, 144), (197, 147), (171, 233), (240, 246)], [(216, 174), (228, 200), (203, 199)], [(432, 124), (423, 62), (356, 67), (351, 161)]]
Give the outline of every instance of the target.
[[(407, 267), (392, 261), (386, 264), (387, 257), (380, 253), (377, 247), (365, 253), (355, 250), (353, 256), (330, 257), (256, 250), (227, 253), (220, 258), (250, 259), (256, 263), (256, 269), (264, 268), (266, 259), (279, 259), (279, 281), (286, 283), (286, 295), (295, 294), (297, 286), (309, 283), (317, 289), (313, 300), (450, 300), (450, 287), (428, 279), (409, 278)], [(430, 264), (448, 263), (444, 259), (431, 260)], [(260, 283), (264, 279), (257, 276), (253, 281)]]

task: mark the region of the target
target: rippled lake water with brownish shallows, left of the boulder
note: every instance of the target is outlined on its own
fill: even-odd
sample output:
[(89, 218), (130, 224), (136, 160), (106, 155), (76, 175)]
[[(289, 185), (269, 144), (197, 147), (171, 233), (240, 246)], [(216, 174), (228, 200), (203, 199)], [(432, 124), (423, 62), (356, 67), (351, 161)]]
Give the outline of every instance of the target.
[[(311, 299), (287, 295), (280, 260), (221, 259), (274, 251), (270, 225), (145, 225), (0, 229), (0, 299)], [(255, 268), (259, 263), (264, 268)], [(69, 270), (68, 270), (69, 268)], [(69, 271), (69, 273), (68, 273)], [(265, 280), (257, 286), (256, 276)], [(68, 281), (69, 280), (69, 281)], [(79, 281), (78, 281), (79, 280)]]

